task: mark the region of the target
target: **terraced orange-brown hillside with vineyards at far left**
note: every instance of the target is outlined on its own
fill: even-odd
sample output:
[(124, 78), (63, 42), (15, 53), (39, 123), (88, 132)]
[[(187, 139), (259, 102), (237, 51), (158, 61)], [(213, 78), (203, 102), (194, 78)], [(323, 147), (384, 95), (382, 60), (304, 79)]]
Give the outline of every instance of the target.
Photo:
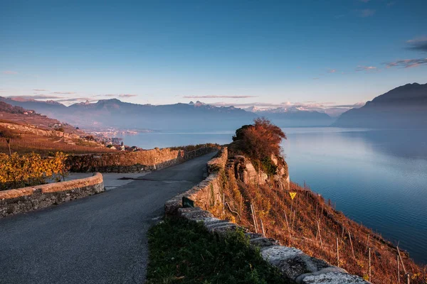
[[(20, 154), (32, 151), (43, 154), (51, 151), (65, 153), (111, 151), (101, 143), (86, 138), (90, 137), (88, 133), (75, 129), (70, 124), (5, 102), (0, 102), (0, 132), (11, 137), (11, 151)], [(9, 153), (4, 138), (0, 138), (0, 153)]]

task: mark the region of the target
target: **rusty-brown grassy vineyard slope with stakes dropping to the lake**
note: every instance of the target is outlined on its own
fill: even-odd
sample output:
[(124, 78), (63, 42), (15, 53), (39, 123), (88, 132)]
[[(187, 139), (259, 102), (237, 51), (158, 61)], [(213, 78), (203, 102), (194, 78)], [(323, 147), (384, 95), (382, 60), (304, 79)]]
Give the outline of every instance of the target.
[[(291, 182), (290, 191), (297, 192), (292, 202), (288, 191), (280, 190), (273, 185), (243, 184), (233, 177), (233, 171), (228, 173), (228, 176), (230, 178), (226, 178), (225, 174), (223, 177), (226, 201), (240, 217), (227, 208), (226, 219), (255, 231), (250, 209), (252, 203), (258, 224), (260, 219), (263, 220), (266, 236), (279, 240), (285, 246), (301, 249), (310, 256), (322, 258), (335, 266), (338, 264), (336, 253), (338, 238), (339, 266), (349, 273), (365, 278), (368, 273), (368, 247), (371, 247), (371, 282), (398, 283), (396, 248), (374, 231), (334, 210), (320, 195)], [(349, 236), (352, 238), (354, 256)], [(408, 258), (407, 253), (401, 252), (401, 255), (406, 271), (411, 273), (411, 283), (425, 283), (425, 275), (421, 268)], [(400, 268), (403, 283), (404, 271), (402, 266)]]

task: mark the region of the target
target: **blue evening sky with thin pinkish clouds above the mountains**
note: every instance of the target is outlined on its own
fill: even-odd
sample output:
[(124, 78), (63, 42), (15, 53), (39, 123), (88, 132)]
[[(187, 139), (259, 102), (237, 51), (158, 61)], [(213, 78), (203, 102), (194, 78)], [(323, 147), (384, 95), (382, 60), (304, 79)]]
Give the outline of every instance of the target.
[(427, 82), (427, 1), (1, 1), (0, 96), (351, 106)]

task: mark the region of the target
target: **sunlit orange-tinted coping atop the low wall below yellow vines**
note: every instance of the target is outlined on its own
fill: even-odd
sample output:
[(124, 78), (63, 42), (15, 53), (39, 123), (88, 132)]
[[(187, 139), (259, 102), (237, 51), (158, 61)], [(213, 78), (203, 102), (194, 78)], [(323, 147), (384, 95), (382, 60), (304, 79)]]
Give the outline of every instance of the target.
[(103, 182), (102, 175), (95, 173), (89, 178), (80, 178), (78, 180), (68, 180), (66, 182), (48, 183), (46, 185), (36, 185), (32, 187), (21, 187), (14, 190), (1, 190), (0, 200), (8, 200), (17, 197), (33, 195), (35, 192), (49, 193), (73, 190), (79, 187), (87, 187)]

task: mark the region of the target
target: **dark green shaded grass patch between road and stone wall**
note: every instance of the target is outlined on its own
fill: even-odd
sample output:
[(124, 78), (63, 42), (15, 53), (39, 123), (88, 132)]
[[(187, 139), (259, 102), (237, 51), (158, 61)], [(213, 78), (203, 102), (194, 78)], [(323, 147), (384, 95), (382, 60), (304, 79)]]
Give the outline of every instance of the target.
[(165, 219), (149, 230), (147, 284), (285, 283), (242, 231), (219, 237), (202, 224)]

